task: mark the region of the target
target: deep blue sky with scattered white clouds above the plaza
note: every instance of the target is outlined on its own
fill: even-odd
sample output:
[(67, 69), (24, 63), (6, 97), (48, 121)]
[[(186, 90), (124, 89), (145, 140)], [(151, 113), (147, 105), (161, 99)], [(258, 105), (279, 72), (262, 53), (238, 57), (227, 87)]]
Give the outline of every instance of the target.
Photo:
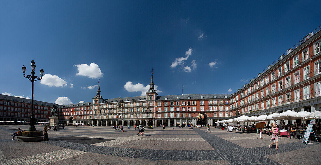
[[(54, 103), (232, 93), (321, 25), (318, 1), (0, 1), (0, 93)], [(71, 85), (72, 84), (72, 85)], [(89, 87), (89, 88), (88, 88)], [(229, 91), (230, 89), (230, 91)], [(58, 97), (67, 97), (60, 98)]]

